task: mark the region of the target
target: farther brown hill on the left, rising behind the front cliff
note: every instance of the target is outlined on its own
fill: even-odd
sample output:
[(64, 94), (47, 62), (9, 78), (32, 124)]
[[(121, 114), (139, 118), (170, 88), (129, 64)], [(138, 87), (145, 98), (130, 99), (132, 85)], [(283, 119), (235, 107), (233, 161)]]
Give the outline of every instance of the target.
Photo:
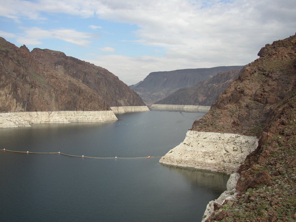
[(96, 91), (109, 106), (144, 106), (141, 98), (117, 76), (108, 70), (66, 56), (62, 52), (49, 49), (33, 49), (36, 61), (47, 67), (82, 82)]

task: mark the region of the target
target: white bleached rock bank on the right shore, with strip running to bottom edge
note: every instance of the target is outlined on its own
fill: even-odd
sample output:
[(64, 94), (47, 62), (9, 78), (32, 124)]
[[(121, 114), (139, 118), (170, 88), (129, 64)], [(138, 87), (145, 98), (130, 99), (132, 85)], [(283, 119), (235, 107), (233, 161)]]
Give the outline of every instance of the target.
[(159, 162), (230, 174), (226, 191), (207, 204), (203, 222), (213, 213), (214, 203), (222, 205), (225, 200), (235, 198), (235, 187), (240, 176), (236, 172), (247, 155), (257, 147), (258, 139), (255, 136), (189, 130), (184, 141), (161, 157)]

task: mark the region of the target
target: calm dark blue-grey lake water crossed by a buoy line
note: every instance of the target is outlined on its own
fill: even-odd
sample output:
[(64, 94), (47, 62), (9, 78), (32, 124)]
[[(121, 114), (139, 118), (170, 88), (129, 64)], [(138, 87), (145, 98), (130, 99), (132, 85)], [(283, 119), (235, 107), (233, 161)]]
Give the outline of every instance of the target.
[[(205, 113), (147, 111), (109, 123), (0, 129), (0, 149), (91, 157), (163, 156)], [(201, 221), (229, 176), (150, 159), (0, 150), (0, 221)]]

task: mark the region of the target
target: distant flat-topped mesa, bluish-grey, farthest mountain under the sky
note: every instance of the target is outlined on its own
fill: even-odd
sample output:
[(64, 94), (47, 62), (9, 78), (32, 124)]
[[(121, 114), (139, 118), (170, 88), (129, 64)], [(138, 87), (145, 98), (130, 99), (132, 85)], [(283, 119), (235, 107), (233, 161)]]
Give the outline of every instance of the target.
[(150, 106), (178, 89), (192, 87), (201, 81), (217, 75), (219, 72), (242, 68), (243, 66), (220, 66), (153, 72), (147, 75), (143, 81), (129, 87), (135, 90), (143, 101)]

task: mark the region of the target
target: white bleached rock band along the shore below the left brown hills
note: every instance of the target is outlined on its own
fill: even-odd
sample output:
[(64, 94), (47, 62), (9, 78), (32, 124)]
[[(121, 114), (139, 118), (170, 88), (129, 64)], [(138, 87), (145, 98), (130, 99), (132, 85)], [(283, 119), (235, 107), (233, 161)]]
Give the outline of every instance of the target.
[[(146, 107), (146, 108), (145, 108)], [(0, 113), (0, 128), (30, 127), (32, 123), (98, 123), (118, 120), (115, 113), (148, 111), (147, 106), (112, 107), (102, 111), (37, 111)]]

